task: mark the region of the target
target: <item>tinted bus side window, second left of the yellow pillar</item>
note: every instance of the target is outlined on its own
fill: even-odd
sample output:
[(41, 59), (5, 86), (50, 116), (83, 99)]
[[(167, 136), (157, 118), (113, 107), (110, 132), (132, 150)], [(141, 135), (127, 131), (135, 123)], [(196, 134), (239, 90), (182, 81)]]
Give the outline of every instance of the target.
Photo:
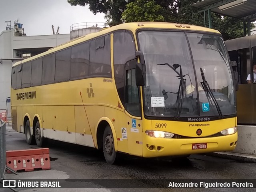
[(89, 71), (90, 42), (86, 42), (71, 49), (70, 78), (88, 76)]

